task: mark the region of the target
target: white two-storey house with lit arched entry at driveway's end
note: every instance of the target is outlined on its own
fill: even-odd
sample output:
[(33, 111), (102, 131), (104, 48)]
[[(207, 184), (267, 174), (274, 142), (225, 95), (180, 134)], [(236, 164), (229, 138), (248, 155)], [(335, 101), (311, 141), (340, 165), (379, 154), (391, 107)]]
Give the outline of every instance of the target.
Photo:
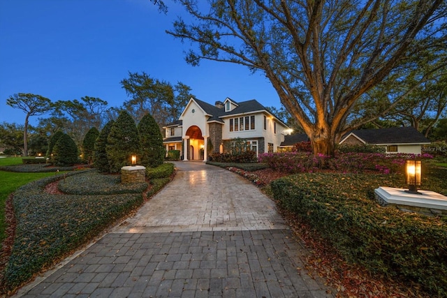
[(274, 152), (290, 131), (258, 101), (230, 98), (215, 105), (191, 98), (179, 119), (164, 128), (166, 150), (180, 150), (184, 161), (207, 161), (208, 152), (223, 153), (235, 138), (247, 142), (256, 155)]

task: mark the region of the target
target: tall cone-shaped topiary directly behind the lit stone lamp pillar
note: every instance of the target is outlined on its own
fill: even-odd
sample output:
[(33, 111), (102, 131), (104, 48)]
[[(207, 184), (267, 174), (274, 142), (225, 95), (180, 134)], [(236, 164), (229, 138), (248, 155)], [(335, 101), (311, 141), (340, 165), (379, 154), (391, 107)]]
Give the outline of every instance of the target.
[(141, 157), (140, 135), (128, 112), (121, 112), (110, 129), (105, 151), (112, 173), (119, 172), (124, 165), (131, 165), (131, 156)]

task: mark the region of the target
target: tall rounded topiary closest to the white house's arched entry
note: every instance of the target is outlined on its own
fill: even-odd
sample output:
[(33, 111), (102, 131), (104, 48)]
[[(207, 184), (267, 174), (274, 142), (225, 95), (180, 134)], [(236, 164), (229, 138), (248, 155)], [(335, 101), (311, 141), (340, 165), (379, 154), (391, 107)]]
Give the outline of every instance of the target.
[(163, 136), (154, 117), (145, 114), (138, 124), (138, 132), (140, 133), (142, 147), (141, 165), (145, 167), (161, 165), (166, 151), (163, 147)]

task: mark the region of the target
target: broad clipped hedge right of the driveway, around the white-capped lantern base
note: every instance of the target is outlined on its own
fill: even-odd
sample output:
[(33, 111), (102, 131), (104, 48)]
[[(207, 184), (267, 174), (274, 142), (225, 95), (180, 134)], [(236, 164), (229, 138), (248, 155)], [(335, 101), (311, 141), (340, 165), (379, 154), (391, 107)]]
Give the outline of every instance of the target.
[(374, 201), (374, 188), (404, 187), (402, 181), (399, 174), (305, 173), (271, 186), (282, 207), (309, 223), (349, 262), (445, 297), (446, 218), (409, 214)]

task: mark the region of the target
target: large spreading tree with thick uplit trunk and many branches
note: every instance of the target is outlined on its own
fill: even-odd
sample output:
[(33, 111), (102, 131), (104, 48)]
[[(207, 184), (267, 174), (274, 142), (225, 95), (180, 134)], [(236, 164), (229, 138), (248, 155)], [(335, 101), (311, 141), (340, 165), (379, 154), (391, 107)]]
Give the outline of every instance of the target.
[[(423, 47), (445, 42), (444, 0), (179, 0), (189, 19), (167, 31), (190, 64), (261, 70), (312, 142), (333, 155), (356, 102)], [(195, 46), (195, 47), (194, 47)]]

